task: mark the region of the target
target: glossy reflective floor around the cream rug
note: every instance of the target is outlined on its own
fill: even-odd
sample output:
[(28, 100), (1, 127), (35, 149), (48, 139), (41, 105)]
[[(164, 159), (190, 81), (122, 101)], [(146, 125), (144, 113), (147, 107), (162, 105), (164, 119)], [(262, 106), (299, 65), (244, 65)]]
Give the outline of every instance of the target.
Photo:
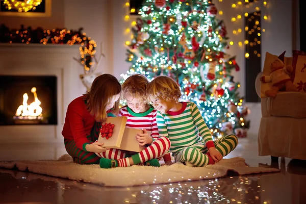
[[(259, 157), (256, 136), (239, 139), (227, 158), (270, 166)], [(0, 161), (58, 159), (63, 144), (0, 144)], [(279, 173), (130, 188), (107, 188), (22, 171), (0, 169), (0, 203), (306, 203), (306, 164), (279, 158)]]

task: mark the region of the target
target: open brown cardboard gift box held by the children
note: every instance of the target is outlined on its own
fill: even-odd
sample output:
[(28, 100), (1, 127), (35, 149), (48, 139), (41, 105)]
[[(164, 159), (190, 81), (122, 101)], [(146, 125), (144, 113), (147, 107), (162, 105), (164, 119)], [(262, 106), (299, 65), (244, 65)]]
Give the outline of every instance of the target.
[[(115, 125), (113, 129), (113, 135), (107, 139), (106, 137), (101, 137), (100, 133), (98, 142), (103, 142), (103, 147), (106, 148), (115, 148), (135, 152), (142, 151), (145, 146), (140, 146), (136, 140), (137, 133), (142, 133), (142, 130), (125, 127), (126, 120), (127, 118), (125, 116), (107, 118), (105, 123), (111, 123)], [(147, 133), (149, 135), (151, 134), (150, 131), (147, 131)]]

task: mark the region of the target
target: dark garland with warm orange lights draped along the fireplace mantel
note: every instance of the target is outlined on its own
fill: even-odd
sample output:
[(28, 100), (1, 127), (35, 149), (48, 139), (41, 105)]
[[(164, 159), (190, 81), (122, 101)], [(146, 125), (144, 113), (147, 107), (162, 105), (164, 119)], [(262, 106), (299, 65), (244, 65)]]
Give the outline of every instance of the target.
[(24, 28), (9, 29), (5, 24), (0, 25), (0, 43), (40, 43), (40, 44), (80, 44), (81, 59), (78, 60), (84, 66), (84, 72), (92, 72), (94, 67), (94, 55), (96, 42), (86, 36), (83, 28), (78, 31), (67, 29), (45, 30), (41, 27), (32, 29)]

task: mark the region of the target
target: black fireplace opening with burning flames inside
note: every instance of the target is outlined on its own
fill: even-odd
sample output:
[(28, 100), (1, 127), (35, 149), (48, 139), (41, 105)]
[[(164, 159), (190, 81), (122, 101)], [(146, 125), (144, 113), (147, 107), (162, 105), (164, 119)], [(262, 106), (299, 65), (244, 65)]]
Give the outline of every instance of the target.
[(0, 75), (0, 125), (57, 124), (55, 76)]

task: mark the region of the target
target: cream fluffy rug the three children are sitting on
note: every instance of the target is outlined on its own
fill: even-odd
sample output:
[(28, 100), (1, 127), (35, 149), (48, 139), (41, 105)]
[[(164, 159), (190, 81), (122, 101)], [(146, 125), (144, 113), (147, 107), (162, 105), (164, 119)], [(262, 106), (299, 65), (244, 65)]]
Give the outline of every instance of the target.
[(112, 187), (215, 179), (225, 177), (231, 171), (239, 175), (279, 171), (275, 168), (247, 167), (244, 159), (239, 157), (223, 159), (217, 164), (205, 167), (187, 167), (175, 163), (159, 168), (134, 165), (129, 168), (113, 169), (101, 169), (98, 165), (75, 164), (69, 155), (64, 155), (57, 161), (0, 162), (0, 168), (14, 169), (15, 167), (20, 171)]

